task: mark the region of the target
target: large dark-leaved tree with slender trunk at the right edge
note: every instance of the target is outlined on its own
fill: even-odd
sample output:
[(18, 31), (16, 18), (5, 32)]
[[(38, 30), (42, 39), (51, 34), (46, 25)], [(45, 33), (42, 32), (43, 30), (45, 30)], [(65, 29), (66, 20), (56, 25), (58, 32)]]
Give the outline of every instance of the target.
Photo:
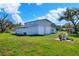
[(74, 25), (74, 33), (78, 33), (77, 24), (79, 23), (79, 9), (67, 9), (59, 20), (70, 21)]

